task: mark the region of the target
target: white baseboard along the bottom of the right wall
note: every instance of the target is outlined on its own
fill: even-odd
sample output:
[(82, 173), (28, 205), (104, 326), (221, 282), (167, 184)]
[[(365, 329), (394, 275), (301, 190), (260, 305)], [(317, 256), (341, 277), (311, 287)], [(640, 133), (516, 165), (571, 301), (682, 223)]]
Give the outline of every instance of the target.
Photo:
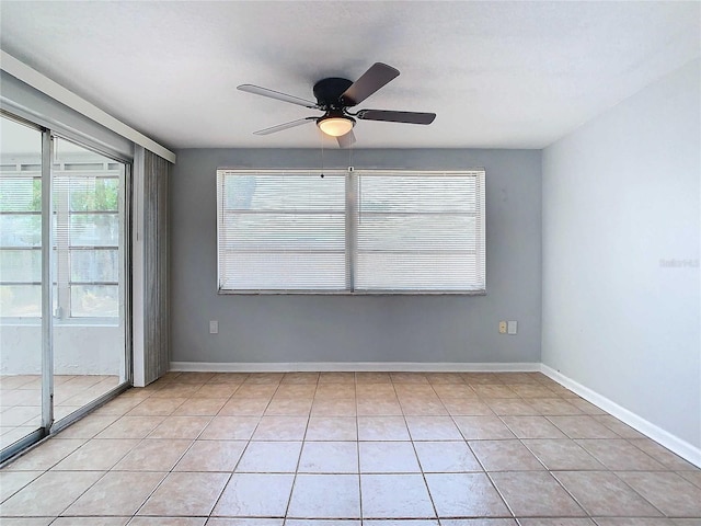
[(553, 369), (552, 367), (547, 366), (545, 364), (541, 365), (540, 371), (543, 375), (552, 378), (563, 387), (570, 389), (574, 393), (581, 396), (585, 400), (591, 402), (596, 407), (602, 409), (612, 416), (616, 416), (621, 422), (624, 422), (634, 430), (640, 431), (645, 436), (662, 444), (667, 449), (676, 453), (694, 466), (701, 467), (701, 448), (689, 444), (688, 442), (673, 435), (662, 427), (658, 427), (657, 425), (648, 422), (639, 414), (629, 411), (628, 409), (619, 405), (605, 396), (599, 395), (598, 392), (583, 386), (582, 384), (578, 384), (577, 381), (568, 378), (567, 376)]

